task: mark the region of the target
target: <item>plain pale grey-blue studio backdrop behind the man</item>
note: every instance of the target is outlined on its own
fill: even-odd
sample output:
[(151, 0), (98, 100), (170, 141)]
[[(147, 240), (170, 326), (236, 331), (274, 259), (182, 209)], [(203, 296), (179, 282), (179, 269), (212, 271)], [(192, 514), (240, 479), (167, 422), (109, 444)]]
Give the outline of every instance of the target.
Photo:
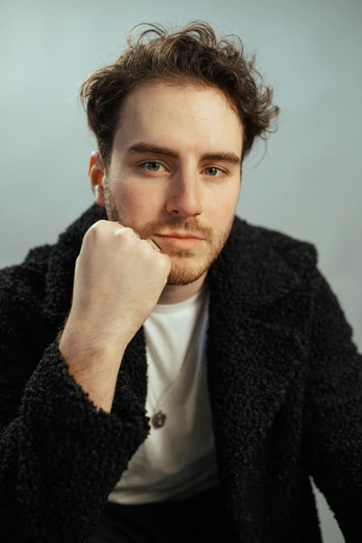
[[(0, 267), (54, 243), (94, 202), (80, 81), (121, 53), (136, 24), (194, 19), (257, 52), (282, 110), (263, 160), (261, 141), (244, 162), (236, 213), (316, 244), (361, 351), (361, 0), (1, 0)], [(313, 488), (325, 542), (343, 542)]]

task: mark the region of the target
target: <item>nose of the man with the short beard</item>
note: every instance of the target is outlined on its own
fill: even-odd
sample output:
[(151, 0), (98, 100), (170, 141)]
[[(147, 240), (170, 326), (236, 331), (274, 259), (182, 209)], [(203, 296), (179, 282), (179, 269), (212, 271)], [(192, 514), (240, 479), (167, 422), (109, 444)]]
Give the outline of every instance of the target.
[(192, 217), (202, 213), (202, 187), (195, 176), (178, 175), (169, 187), (167, 211), (170, 214)]

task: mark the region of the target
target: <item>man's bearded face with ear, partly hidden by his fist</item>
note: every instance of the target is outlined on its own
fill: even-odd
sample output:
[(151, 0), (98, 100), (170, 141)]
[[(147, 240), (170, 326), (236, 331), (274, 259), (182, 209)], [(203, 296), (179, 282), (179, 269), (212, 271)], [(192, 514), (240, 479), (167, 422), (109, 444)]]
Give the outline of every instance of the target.
[[(92, 157), (96, 202), (171, 257), (167, 284), (196, 281), (221, 252), (239, 199), (242, 146), (243, 127), (221, 92), (148, 83), (126, 99), (107, 175), (99, 154)], [(175, 232), (202, 239), (160, 236)]]

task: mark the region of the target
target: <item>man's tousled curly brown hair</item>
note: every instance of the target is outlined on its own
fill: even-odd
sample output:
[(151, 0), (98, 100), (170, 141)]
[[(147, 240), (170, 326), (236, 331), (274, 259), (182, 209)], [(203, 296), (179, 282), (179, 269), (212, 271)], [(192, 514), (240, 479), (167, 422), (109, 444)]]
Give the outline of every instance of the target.
[[(246, 54), (238, 36), (232, 35), (236, 40), (227, 40), (230, 37), (227, 35), (218, 41), (209, 24), (191, 21), (176, 32), (148, 24), (151, 28), (143, 31), (133, 43), (132, 31), (137, 26), (128, 33), (128, 49), (112, 64), (94, 71), (80, 85), (80, 101), (87, 112), (88, 126), (96, 136), (106, 171), (114, 134), (121, 124), (122, 105), (140, 83), (162, 80), (221, 89), (243, 125), (245, 142), (241, 162), (250, 152), (255, 137), (266, 140), (268, 132), (275, 132), (270, 123), (279, 114), (279, 107), (271, 105), (273, 89), (264, 86), (255, 68), (255, 53)], [(148, 33), (157, 36), (144, 42)]]

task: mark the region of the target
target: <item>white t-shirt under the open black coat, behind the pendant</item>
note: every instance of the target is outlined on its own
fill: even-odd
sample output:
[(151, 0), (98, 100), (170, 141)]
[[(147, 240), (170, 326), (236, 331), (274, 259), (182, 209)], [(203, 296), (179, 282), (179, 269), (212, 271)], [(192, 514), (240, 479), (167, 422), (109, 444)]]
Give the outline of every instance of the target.
[(108, 501), (182, 499), (219, 484), (207, 392), (208, 304), (205, 283), (185, 302), (157, 304), (144, 322), (146, 411), (152, 417), (162, 405), (166, 421), (160, 428), (151, 426)]

